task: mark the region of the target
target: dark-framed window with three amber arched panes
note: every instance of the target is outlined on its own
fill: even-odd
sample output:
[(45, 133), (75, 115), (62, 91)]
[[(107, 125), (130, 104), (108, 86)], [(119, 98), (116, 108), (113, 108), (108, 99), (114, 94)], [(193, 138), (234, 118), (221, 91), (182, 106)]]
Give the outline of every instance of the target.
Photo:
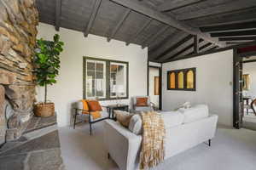
[(196, 68), (167, 71), (168, 90), (195, 91)]

